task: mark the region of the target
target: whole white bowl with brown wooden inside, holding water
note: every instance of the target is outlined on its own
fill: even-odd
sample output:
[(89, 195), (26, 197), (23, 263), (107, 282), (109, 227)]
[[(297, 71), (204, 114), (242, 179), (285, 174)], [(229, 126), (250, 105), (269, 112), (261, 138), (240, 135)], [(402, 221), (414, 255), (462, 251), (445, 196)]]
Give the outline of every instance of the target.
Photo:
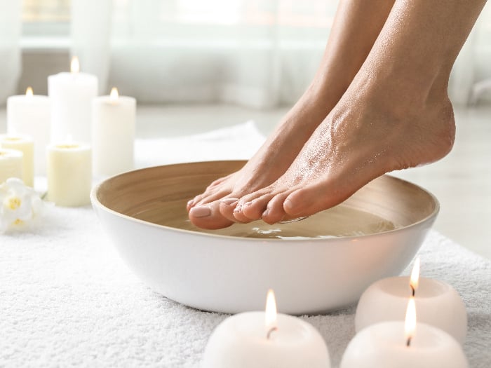
[(187, 200), (244, 163), (126, 172), (95, 186), (93, 207), (147, 285), (182, 304), (225, 313), (264, 310), (269, 288), (283, 313), (354, 303), (375, 280), (403, 271), (438, 213), (431, 193), (384, 175), (341, 205), (291, 224), (257, 221), (202, 232), (186, 221)]

